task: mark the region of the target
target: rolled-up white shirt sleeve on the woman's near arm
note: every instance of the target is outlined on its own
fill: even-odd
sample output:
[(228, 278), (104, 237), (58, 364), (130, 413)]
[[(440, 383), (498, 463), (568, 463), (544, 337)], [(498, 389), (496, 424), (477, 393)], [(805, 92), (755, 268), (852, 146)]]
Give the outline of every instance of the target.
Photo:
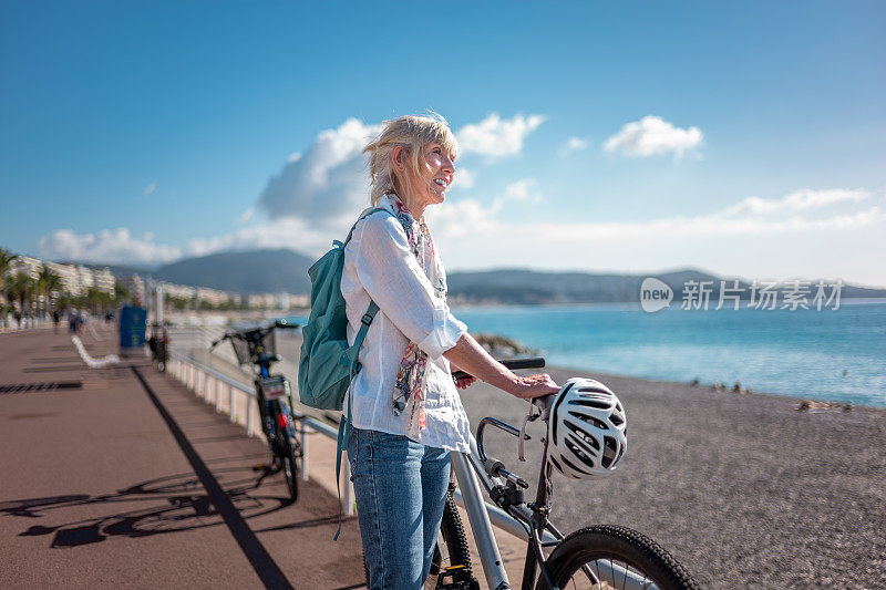
[[(354, 231), (357, 276), (369, 297), (403, 334), (436, 360), (467, 331), (434, 296), (406, 236), (389, 215), (368, 217)], [(357, 244), (353, 244), (357, 242)]]

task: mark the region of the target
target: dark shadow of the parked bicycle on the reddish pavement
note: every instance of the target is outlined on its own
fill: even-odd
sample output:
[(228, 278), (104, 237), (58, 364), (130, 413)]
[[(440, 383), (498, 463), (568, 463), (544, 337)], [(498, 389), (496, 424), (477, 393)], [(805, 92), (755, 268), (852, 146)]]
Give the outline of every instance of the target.
[[(266, 470), (253, 466), (213, 469), (215, 477), (244, 519), (249, 520), (290, 506), (288, 496), (258, 494)], [(119, 504), (151, 503), (146, 508), (117, 511)], [(69, 494), (44, 498), (0, 501), (0, 516), (47, 518), (65, 511), (82, 514), (107, 508), (113, 514), (89, 516), (62, 524), (31, 525), (19, 537), (54, 535), (52, 548), (70, 548), (102, 542), (112, 537), (138, 538), (225, 526), (225, 521), (194, 473), (176, 474), (142, 482), (114, 494)], [(78, 515), (79, 516), (79, 515)], [(318, 525), (328, 519), (317, 519)], [(286, 527), (287, 525), (282, 525)]]

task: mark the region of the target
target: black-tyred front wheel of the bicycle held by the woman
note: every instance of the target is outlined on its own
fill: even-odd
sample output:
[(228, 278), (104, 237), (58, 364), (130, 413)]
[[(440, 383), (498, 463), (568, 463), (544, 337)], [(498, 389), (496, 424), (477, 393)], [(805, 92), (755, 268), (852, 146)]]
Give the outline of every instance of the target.
[[(660, 545), (627, 527), (598, 525), (577, 530), (557, 545), (547, 565), (554, 582), (564, 590), (699, 588)], [(550, 586), (542, 576), (536, 588), (549, 590)]]

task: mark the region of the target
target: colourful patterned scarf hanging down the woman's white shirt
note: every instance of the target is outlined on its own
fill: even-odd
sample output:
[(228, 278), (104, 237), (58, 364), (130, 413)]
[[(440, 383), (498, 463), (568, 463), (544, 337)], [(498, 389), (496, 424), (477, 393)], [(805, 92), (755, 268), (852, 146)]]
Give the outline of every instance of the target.
[[(415, 255), (419, 266), (424, 271), (431, 284), (434, 286), (434, 296), (446, 299), (446, 281), (444, 279), (443, 267), (434, 256), (434, 240), (424, 224), (424, 219), (416, 221), (409, 213), (403, 201), (394, 195), (388, 195), (392, 205), (392, 210), (396, 215), (403, 231), (409, 239), (409, 249)], [(392, 410), (395, 416), (409, 410), (409, 436), (413, 439), (421, 439), (424, 431), (424, 377), (427, 372), (427, 354), (418, 344), (410, 342), (406, 352), (400, 361), (396, 371), (396, 383), (394, 384)]]

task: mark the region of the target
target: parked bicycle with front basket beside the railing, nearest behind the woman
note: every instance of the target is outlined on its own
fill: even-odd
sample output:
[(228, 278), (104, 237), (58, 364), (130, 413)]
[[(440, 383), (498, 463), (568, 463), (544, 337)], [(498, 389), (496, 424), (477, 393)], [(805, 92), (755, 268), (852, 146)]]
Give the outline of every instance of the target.
[(289, 497), (298, 500), (298, 479), (301, 473), (303, 451), (296, 436), (292, 416), (292, 393), (289, 381), (282, 375), (271, 375), (270, 365), (280, 360), (276, 353), (276, 329), (295, 330), (299, 324), (286, 320), (262, 327), (226, 332), (213, 342), (209, 350), (229, 340), (240, 365), (253, 364), (257, 369), (255, 377), (256, 401), (261, 418), (261, 431), (268, 441), (270, 465), (267, 474), (284, 472)]

